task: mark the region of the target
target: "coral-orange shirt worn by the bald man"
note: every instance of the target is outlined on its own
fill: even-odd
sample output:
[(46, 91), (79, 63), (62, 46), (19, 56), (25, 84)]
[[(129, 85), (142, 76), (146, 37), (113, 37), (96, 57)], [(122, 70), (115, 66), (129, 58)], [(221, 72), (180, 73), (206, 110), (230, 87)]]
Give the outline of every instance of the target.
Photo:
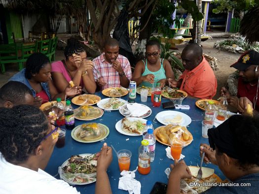
[(180, 79), (183, 79), (180, 90), (192, 97), (211, 99), (217, 92), (217, 79), (204, 57), (194, 69), (185, 70)]

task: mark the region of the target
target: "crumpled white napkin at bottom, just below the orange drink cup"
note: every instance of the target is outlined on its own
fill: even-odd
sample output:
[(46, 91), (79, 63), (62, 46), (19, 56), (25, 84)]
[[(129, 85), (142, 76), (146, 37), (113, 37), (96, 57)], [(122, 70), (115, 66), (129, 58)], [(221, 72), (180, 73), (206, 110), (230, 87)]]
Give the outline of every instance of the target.
[(128, 191), (129, 194), (140, 194), (141, 184), (139, 181), (134, 179), (135, 172), (137, 171), (137, 169), (138, 167), (136, 168), (136, 170), (133, 170), (133, 171), (123, 170), (120, 173), (122, 177), (119, 178), (118, 189)]

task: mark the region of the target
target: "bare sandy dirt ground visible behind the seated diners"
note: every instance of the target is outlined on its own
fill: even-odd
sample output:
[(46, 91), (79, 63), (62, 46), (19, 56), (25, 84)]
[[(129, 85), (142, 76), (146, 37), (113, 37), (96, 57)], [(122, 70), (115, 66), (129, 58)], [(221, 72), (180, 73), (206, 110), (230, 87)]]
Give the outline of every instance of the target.
[[(229, 53), (226, 51), (219, 51), (218, 49), (213, 48), (214, 42), (220, 39), (223, 39), (223, 38), (213, 38), (202, 42), (203, 53), (210, 55), (212, 57), (216, 57), (218, 59), (219, 69), (214, 71), (218, 80), (218, 89), (214, 99), (217, 99), (218, 97), (220, 97), (220, 90), (222, 86), (225, 85), (228, 75), (235, 71), (234, 68), (229, 66), (235, 63), (240, 56), (240, 54)], [(178, 51), (182, 52), (182, 50), (185, 48), (185, 45), (186, 43), (182, 43), (178, 45), (177, 46), (177, 48), (179, 49)], [(58, 61), (63, 58), (64, 58), (63, 51), (57, 50), (56, 60)], [(15, 64), (7, 64), (5, 65), (5, 68), (6, 68), (6, 73), (0, 74), (0, 87), (3, 84), (5, 84), (12, 75), (17, 73), (17, 65)]]

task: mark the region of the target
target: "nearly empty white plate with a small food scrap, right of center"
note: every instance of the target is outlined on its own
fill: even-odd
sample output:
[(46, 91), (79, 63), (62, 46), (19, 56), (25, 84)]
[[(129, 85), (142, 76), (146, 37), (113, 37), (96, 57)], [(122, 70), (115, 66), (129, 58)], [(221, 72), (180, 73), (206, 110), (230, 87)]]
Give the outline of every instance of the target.
[(188, 115), (186, 115), (185, 113), (182, 113), (182, 112), (174, 111), (174, 110), (167, 110), (167, 111), (159, 112), (155, 116), (155, 118), (157, 119), (157, 121), (159, 121), (163, 125), (168, 125), (168, 124), (171, 124), (171, 123), (167, 123), (167, 122), (165, 122), (165, 120), (166, 119), (173, 119), (176, 115), (181, 115), (182, 118), (183, 118), (183, 121), (181, 123), (179, 123), (179, 125), (181, 125), (181, 126), (190, 125), (191, 118)]

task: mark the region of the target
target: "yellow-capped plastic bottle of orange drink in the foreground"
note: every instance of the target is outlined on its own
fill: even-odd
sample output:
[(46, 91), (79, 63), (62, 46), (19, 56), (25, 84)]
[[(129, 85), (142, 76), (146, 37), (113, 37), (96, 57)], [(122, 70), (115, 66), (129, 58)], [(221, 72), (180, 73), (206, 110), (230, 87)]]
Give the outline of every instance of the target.
[(148, 174), (150, 172), (150, 152), (148, 148), (148, 140), (142, 140), (139, 148), (139, 165), (140, 174)]

